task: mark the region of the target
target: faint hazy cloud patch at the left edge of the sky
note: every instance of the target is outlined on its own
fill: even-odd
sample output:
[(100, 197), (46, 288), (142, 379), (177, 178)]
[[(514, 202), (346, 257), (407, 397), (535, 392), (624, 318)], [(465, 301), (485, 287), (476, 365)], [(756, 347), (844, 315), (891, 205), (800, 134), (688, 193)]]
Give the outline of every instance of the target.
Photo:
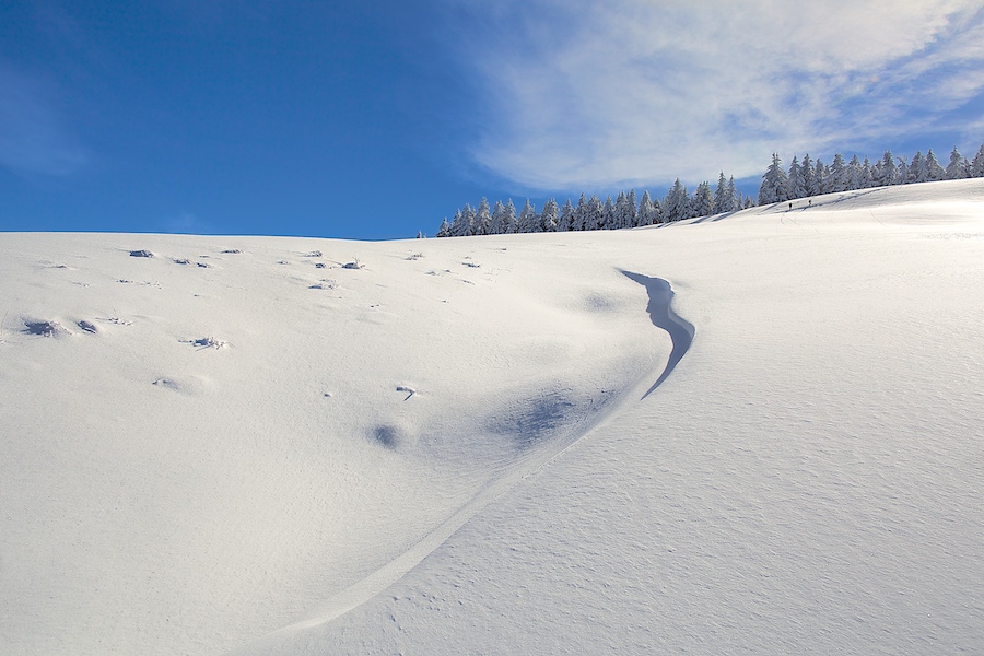
[(0, 66), (0, 166), (66, 175), (87, 161), (43, 81)]

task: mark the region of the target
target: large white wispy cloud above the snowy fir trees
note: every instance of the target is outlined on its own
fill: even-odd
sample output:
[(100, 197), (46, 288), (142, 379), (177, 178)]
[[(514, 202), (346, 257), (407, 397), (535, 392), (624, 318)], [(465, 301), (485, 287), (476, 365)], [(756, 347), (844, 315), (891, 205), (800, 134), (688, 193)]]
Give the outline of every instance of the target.
[(984, 92), (977, 0), (449, 3), (483, 90), (472, 155), (536, 189), (752, 175), (959, 129)]

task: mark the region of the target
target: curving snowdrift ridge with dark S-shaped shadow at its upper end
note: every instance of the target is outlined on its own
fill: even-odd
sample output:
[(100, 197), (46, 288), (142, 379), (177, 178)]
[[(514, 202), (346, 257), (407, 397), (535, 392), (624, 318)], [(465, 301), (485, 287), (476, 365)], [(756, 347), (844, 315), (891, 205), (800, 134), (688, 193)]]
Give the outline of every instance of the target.
[(628, 405), (636, 402), (633, 401), (634, 398), (643, 400), (659, 387), (690, 349), (690, 344), (693, 341), (694, 328), (689, 321), (678, 316), (670, 307), (673, 291), (669, 282), (661, 278), (649, 278), (621, 269), (620, 271), (626, 278), (646, 288), (649, 295), (649, 304), (646, 307), (646, 312), (649, 313), (654, 326), (661, 328), (669, 333), (673, 344), (669, 358), (667, 359), (666, 366), (659, 374), (659, 377), (645, 394), (642, 395), (642, 397), (636, 397), (635, 395), (645, 384), (644, 378), (640, 378), (634, 385), (626, 387), (624, 391), (607, 405), (607, 408), (602, 406), (602, 410), (585, 422), (579, 431), (567, 436), (565, 440), (559, 441), (553, 449), (540, 450), (518, 458), (511, 469), (480, 488), (470, 501), (466, 502), (441, 525), (424, 536), (417, 544), (391, 560), (389, 563), (383, 565), (362, 581), (337, 593), (323, 605), (308, 611), (306, 617), (301, 620), (233, 649), (227, 653), (227, 656), (233, 656), (235, 654), (266, 653), (268, 646), (276, 647), (278, 644), (277, 637), (284, 633), (305, 631), (326, 624), (365, 604), (402, 578), (403, 575), (446, 542), (448, 538), (457, 532), (458, 529), (485, 506), (493, 503), (523, 480), (542, 470), (543, 467), (560, 457), (564, 452), (591, 434), (595, 430), (609, 423)]

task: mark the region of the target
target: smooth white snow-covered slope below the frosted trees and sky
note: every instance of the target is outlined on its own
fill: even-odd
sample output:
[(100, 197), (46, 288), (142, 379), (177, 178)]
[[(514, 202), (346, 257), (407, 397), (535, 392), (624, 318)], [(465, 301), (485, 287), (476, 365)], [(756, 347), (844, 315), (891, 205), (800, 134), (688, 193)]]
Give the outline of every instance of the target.
[(984, 649), (981, 180), (0, 271), (0, 652)]

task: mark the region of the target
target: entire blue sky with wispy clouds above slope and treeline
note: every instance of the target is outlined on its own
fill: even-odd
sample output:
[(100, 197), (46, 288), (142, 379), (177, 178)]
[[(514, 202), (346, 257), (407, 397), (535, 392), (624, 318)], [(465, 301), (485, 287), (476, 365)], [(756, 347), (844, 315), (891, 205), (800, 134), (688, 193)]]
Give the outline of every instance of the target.
[[(808, 7), (805, 9), (805, 7)], [(976, 1), (0, 4), (0, 230), (433, 233), (984, 141)]]

